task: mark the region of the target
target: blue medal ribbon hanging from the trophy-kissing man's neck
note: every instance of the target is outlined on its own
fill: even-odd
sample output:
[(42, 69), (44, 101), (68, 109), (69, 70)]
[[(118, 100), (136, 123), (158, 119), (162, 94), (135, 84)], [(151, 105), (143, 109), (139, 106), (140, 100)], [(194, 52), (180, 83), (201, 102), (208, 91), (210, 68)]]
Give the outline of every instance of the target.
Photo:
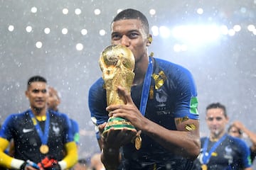
[(141, 97), (141, 103), (139, 106), (139, 111), (142, 113), (142, 115), (145, 115), (146, 112), (146, 103), (149, 98), (149, 87), (151, 84), (151, 75), (153, 73), (153, 60), (152, 57), (149, 57), (149, 65), (146, 69), (146, 75), (144, 78), (144, 83), (142, 87), (142, 97)]

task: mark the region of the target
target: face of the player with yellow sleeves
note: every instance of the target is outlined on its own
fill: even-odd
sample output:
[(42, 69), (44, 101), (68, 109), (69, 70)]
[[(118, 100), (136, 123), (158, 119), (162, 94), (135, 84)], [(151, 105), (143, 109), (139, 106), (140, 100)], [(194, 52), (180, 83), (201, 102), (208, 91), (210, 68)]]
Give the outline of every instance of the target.
[(46, 108), (48, 101), (48, 89), (45, 82), (35, 81), (28, 86), (26, 96), (30, 102), (31, 108)]

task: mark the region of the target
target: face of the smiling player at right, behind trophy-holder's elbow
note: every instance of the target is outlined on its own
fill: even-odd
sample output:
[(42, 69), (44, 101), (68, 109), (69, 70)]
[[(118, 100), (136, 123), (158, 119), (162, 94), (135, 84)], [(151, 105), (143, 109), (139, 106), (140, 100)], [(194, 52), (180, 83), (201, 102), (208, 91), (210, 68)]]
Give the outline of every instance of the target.
[(212, 135), (218, 136), (225, 132), (228, 118), (225, 117), (221, 108), (210, 108), (206, 113), (206, 123)]

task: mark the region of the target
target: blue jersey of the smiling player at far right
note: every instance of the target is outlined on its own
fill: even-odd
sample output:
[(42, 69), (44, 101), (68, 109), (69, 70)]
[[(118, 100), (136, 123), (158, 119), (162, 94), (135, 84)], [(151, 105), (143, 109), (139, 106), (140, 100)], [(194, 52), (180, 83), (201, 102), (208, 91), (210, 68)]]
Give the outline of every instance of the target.
[[(203, 148), (206, 140), (208, 140), (207, 152), (213, 147), (215, 142), (211, 142), (208, 137), (201, 138), (201, 146)], [(194, 169), (201, 169), (203, 164), (203, 149), (195, 161)], [(245, 169), (252, 164), (250, 159), (250, 149), (247, 144), (237, 138), (227, 135), (223, 142), (213, 151), (207, 165), (208, 170), (213, 169)]]

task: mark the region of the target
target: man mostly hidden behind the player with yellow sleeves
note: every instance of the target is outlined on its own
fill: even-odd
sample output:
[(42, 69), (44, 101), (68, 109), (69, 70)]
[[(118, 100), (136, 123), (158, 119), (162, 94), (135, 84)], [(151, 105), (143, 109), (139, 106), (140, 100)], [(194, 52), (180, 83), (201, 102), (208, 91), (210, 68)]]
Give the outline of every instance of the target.
[[(49, 98), (47, 103), (48, 109), (52, 111), (58, 111), (58, 106), (60, 105), (60, 94), (52, 86), (48, 87), (48, 91), (49, 91)], [(70, 123), (71, 123), (71, 130), (74, 136), (74, 141), (76, 145), (79, 146), (80, 135), (79, 135), (78, 122), (70, 118)]]

